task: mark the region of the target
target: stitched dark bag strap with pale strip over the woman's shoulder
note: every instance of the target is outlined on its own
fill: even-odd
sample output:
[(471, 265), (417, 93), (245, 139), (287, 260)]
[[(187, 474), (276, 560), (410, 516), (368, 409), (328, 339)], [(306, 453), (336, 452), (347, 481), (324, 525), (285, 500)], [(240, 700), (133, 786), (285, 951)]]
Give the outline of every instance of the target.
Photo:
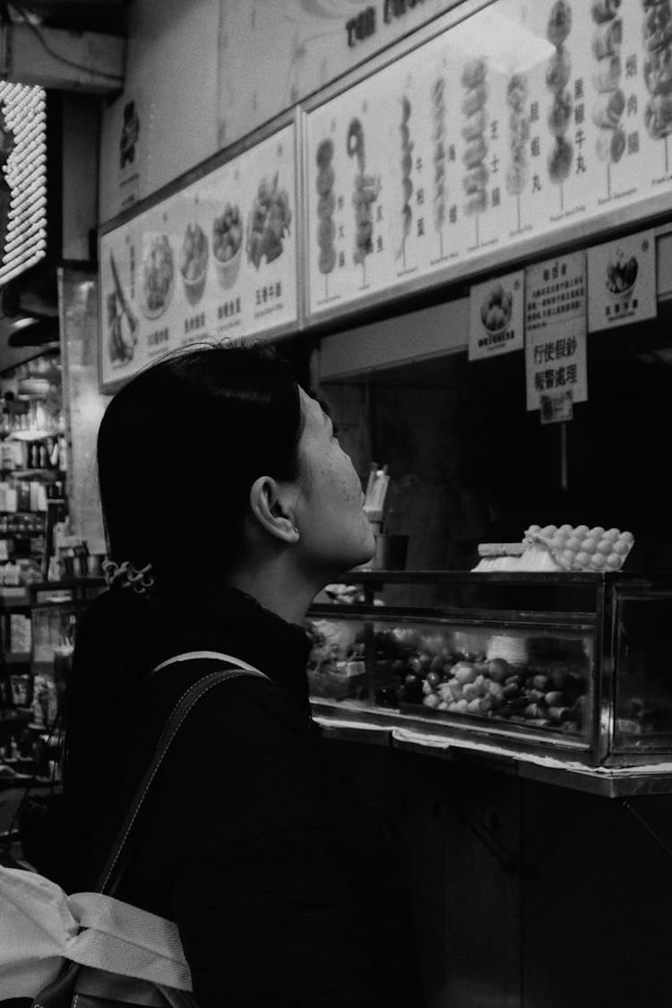
[[(243, 676), (256, 675), (261, 678), (268, 679), (268, 675), (264, 672), (259, 671), (254, 665), (248, 665), (247, 662), (241, 661), (240, 658), (236, 658), (233, 655), (221, 654), (219, 651), (187, 651), (184, 654), (175, 655), (173, 658), (169, 658), (167, 661), (161, 662), (153, 669), (154, 672), (160, 671), (167, 665), (172, 664), (177, 661), (189, 661), (198, 658), (216, 658), (220, 661), (226, 661), (230, 667), (221, 669), (217, 672), (211, 672), (210, 675), (205, 675), (197, 682), (194, 682), (186, 692), (184, 692), (175, 707), (173, 708), (166, 725), (161, 732), (156, 750), (152, 760), (142, 775), (140, 783), (133, 795), (133, 800), (131, 805), (124, 816), (121, 829), (117, 836), (117, 840), (112, 848), (110, 856), (107, 860), (106, 866), (103, 869), (101, 875), (100, 883), (98, 886), (99, 892), (107, 892), (110, 888), (111, 881), (117, 871), (120, 859), (124, 853), (124, 849), (128, 844), (128, 838), (133, 829), (133, 825), (138, 817), (138, 813), (147, 797), (147, 792), (151, 786), (154, 777), (158, 773), (158, 770), (165, 759), (166, 753), (170, 748), (170, 745), (177, 734), (181, 724), (187, 717), (194, 705), (205, 697), (207, 692), (210, 692), (216, 685), (220, 682), (227, 682), (229, 679), (242, 678)], [(231, 667), (233, 666), (233, 667)], [(115, 882), (118, 879), (115, 879)]]

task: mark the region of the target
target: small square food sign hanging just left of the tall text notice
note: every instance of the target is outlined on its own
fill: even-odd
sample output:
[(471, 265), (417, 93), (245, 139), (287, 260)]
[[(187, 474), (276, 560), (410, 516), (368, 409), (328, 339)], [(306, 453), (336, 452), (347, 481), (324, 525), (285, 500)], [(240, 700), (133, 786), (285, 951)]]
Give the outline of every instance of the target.
[(521, 269), (487, 283), (469, 294), (468, 359), (499, 357), (523, 349), (525, 273)]

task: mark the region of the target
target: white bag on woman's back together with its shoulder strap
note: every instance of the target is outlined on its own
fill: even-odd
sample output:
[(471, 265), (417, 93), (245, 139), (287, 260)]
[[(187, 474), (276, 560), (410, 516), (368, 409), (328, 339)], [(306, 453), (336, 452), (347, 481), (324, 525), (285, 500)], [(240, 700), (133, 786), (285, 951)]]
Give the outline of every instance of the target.
[[(157, 665), (215, 659), (233, 666), (198, 679), (180, 698), (145, 769), (101, 879), (101, 892), (68, 896), (33, 872), (0, 867), (0, 1000), (39, 995), (40, 1008), (186, 1008), (191, 976), (177, 925), (107, 895), (150, 785), (194, 704), (240, 675), (268, 678), (233, 655), (189, 651)], [(74, 964), (69, 969), (69, 964)], [(49, 987), (53, 985), (53, 987)]]

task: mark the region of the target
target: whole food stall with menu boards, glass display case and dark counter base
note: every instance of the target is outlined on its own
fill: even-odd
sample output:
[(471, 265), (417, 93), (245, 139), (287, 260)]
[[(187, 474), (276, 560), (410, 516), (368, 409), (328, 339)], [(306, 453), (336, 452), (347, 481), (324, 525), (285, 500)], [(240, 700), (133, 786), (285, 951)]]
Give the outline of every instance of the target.
[[(395, 825), (445, 1003), (665, 974), (671, 44), (667, 0), (466, 0), (101, 229), (105, 390), (297, 335), (363, 480), (389, 464), (405, 563), (315, 601), (313, 712)], [(551, 522), (583, 527), (550, 568), (474, 571)]]

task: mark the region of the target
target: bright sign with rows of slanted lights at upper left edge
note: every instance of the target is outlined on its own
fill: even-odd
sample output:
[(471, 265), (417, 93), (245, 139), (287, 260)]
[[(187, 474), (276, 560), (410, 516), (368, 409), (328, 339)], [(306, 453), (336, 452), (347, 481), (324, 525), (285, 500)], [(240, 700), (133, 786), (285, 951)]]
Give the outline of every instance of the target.
[(0, 81), (0, 285), (45, 254), (45, 93)]

